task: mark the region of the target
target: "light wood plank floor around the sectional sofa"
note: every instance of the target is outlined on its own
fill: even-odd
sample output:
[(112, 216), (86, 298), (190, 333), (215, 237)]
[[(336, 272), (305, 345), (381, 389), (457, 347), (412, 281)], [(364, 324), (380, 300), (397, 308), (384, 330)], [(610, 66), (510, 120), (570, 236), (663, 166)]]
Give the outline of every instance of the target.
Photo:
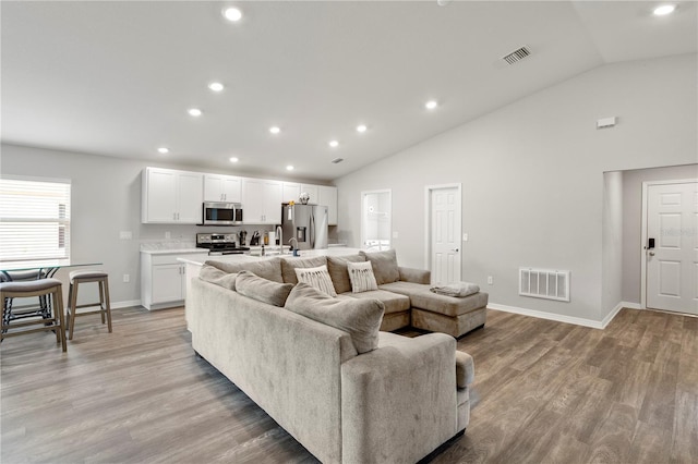
[[(316, 462), (193, 355), (183, 309), (77, 319), (1, 353), (1, 462)], [(95, 322), (95, 323), (92, 323)], [(461, 338), (466, 435), (434, 463), (698, 462), (698, 318), (623, 309), (605, 330), (490, 310)]]

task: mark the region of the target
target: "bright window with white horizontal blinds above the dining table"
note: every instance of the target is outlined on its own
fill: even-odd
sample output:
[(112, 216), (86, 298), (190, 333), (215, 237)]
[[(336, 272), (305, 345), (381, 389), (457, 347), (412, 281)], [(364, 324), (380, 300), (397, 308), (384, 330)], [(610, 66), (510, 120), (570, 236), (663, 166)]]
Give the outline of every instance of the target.
[(0, 261), (70, 258), (70, 181), (0, 178)]

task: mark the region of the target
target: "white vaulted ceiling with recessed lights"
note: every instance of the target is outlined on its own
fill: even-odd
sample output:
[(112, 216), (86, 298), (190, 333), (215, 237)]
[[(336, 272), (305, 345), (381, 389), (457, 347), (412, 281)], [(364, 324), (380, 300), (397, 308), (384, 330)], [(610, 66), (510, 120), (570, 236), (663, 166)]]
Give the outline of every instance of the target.
[(2, 1), (2, 142), (332, 180), (604, 63), (697, 52), (690, 1), (442, 3)]

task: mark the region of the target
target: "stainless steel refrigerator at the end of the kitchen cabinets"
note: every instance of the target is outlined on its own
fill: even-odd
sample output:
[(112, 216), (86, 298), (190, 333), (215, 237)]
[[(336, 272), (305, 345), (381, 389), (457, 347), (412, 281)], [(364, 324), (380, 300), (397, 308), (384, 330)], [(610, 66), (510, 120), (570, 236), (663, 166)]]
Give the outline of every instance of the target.
[[(298, 249), (327, 248), (327, 207), (281, 204), (284, 244)], [(298, 241), (289, 240), (293, 237)]]

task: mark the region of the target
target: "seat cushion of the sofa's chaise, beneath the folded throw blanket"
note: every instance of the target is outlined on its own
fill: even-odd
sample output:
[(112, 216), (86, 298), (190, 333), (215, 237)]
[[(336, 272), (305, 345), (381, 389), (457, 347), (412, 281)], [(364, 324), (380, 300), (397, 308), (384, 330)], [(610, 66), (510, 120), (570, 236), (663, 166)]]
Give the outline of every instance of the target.
[(457, 298), (454, 296), (437, 295), (436, 293), (432, 293), (430, 288), (428, 284), (411, 282), (393, 282), (381, 285), (381, 290), (409, 296), (413, 308), (425, 309), (445, 316), (460, 316), (488, 305), (489, 295), (484, 292)]

